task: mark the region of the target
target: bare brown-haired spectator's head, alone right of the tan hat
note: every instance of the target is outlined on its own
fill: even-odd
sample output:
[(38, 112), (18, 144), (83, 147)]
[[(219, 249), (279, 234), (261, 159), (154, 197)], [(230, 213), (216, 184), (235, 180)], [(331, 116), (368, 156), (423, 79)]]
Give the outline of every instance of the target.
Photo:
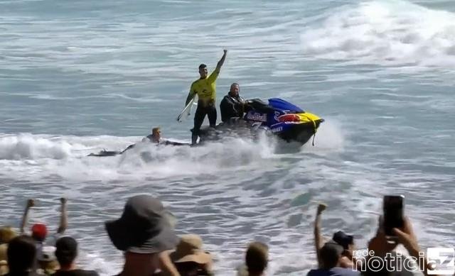
[(248, 245), (245, 264), (250, 275), (262, 275), (269, 263), (269, 247), (257, 241)]

